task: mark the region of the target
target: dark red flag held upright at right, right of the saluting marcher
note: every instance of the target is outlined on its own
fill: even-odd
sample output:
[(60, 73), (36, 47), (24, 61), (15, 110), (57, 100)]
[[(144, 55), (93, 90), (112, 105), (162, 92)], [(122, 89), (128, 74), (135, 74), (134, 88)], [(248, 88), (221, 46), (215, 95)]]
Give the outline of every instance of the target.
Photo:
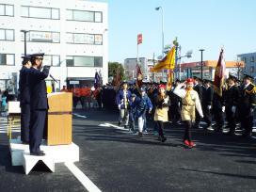
[(222, 87), (224, 84), (225, 71), (226, 71), (226, 64), (223, 57), (223, 49), (221, 49), (218, 57), (218, 61), (216, 64), (215, 81), (214, 81), (215, 91), (221, 97), (222, 97)]

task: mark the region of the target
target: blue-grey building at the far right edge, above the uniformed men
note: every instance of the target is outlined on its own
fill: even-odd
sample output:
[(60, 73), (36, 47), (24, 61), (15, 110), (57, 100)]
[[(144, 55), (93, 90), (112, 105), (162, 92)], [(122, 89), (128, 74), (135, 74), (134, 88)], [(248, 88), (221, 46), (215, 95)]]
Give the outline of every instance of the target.
[(248, 53), (248, 54), (241, 54), (237, 56), (239, 60), (245, 62), (244, 72), (248, 73), (249, 75), (256, 77), (256, 52), (255, 53)]

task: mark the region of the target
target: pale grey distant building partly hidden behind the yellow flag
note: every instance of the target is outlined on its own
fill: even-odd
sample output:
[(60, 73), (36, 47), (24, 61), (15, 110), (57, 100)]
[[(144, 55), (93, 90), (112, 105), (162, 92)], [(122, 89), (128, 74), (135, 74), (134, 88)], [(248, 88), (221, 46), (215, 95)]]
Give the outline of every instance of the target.
[[(149, 59), (147, 57), (139, 57), (139, 66), (145, 81), (160, 82), (163, 79), (162, 72), (151, 72), (153, 66), (157, 63), (157, 60)], [(129, 80), (136, 78), (136, 58), (124, 59), (124, 71)], [(166, 78), (165, 78), (166, 80)]]

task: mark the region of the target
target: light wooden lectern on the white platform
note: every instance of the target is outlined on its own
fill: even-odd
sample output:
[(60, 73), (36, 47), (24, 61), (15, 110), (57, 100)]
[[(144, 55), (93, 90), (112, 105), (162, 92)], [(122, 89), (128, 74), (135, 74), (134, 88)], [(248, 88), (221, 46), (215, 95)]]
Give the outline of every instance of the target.
[(47, 145), (72, 143), (72, 93), (50, 93), (48, 97)]

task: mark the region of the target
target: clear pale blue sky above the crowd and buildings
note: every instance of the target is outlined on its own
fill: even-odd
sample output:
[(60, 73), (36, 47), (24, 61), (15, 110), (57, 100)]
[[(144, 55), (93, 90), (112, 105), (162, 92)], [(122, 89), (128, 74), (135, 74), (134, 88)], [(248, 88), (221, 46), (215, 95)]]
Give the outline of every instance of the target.
[(225, 60), (256, 52), (255, 0), (96, 0), (108, 3), (109, 61), (123, 63), (136, 57), (136, 36), (143, 35), (139, 56), (152, 58), (162, 52), (162, 12), (164, 9), (165, 44), (175, 37), (182, 62), (217, 60), (221, 47)]

